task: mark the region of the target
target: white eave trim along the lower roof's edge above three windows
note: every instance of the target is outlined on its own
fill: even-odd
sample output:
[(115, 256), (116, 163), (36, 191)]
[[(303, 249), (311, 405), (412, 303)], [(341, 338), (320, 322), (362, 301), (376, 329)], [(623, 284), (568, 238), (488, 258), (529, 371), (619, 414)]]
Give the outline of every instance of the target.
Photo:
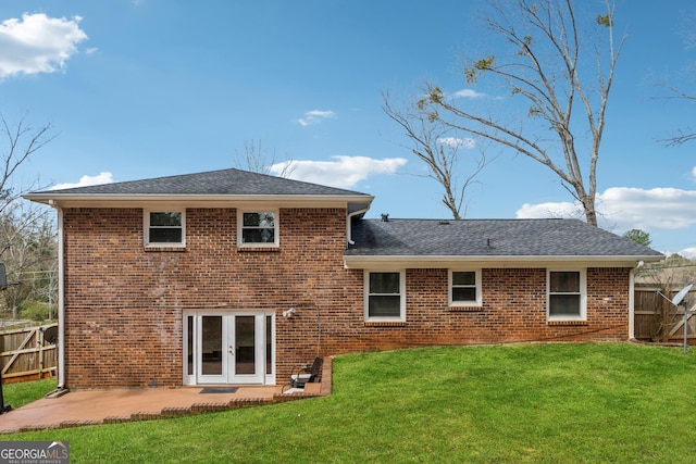
[(554, 267), (572, 263), (573, 266), (585, 267), (635, 267), (637, 262), (658, 262), (661, 256), (413, 256), (413, 255), (344, 255), (347, 269), (402, 269), (402, 268), (449, 268), (463, 265), (482, 265), (485, 267)]

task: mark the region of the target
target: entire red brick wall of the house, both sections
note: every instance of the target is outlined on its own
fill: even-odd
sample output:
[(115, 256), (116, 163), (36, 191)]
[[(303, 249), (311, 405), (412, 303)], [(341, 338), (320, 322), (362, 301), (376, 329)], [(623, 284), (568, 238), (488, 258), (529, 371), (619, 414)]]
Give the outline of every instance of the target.
[[(272, 310), (276, 381), (319, 353), (430, 344), (624, 340), (627, 268), (587, 271), (587, 322), (546, 321), (545, 269), (482, 272), (483, 308), (448, 306), (447, 269), (407, 269), (407, 321), (364, 322), (363, 272), (345, 269), (345, 209), (283, 209), (281, 247), (239, 249), (235, 209), (188, 209), (186, 249), (142, 246), (140, 209), (64, 211), (66, 385), (182, 385), (182, 317)], [(296, 309), (291, 318), (282, 312)]]

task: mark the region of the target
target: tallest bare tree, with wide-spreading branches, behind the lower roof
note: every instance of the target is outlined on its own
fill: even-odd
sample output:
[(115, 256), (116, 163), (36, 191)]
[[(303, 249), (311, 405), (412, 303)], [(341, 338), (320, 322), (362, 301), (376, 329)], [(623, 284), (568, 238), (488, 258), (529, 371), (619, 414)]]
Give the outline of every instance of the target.
[[(464, 76), (470, 85), (485, 78), (501, 86), (513, 99), (507, 111), (523, 110), (486, 114), (458, 103), (434, 84), (425, 86), (418, 110), (423, 121), (487, 139), (547, 166), (580, 202), (587, 223), (597, 225), (597, 161), (625, 39), (614, 42), (612, 5), (607, 2), (601, 13), (593, 14), (593, 26), (579, 20), (572, 0), (489, 0), (488, 7), (484, 21), (493, 39), (502, 39), (508, 49), (464, 58)], [(593, 39), (585, 43), (588, 37)], [(522, 105), (515, 104), (519, 100)]]

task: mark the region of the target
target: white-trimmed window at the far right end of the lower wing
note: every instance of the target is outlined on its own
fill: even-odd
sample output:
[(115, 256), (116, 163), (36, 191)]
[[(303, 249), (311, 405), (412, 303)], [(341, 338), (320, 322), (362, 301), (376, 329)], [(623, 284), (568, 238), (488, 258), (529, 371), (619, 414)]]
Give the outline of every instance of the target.
[(548, 271), (547, 316), (549, 321), (585, 321), (586, 272)]

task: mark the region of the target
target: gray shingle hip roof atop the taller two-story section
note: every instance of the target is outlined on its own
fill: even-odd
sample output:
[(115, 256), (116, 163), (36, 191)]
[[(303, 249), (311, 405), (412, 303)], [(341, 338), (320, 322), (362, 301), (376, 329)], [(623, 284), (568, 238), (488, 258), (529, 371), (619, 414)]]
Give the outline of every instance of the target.
[[(104, 196), (362, 196), (350, 190), (286, 179), (241, 170), (221, 170), (153, 179), (32, 192), (60, 198), (67, 195)], [(366, 196), (371, 198), (370, 196)]]

